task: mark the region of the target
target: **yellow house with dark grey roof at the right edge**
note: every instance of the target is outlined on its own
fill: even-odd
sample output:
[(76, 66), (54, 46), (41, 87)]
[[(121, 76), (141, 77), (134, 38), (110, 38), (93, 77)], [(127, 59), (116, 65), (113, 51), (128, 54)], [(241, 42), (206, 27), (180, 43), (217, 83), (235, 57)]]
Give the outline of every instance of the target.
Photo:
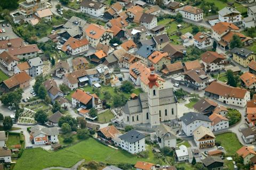
[(246, 48), (235, 47), (231, 50), (231, 53), (233, 54), (233, 60), (243, 67), (247, 67), (256, 58), (255, 54)]

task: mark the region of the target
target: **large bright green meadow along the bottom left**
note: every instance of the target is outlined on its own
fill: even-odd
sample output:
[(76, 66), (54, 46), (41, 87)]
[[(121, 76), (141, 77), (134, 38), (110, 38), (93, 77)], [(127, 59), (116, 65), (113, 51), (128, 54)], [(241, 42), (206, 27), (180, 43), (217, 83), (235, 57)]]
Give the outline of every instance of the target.
[(18, 159), (14, 170), (39, 170), (51, 166), (71, 167), (81, 159), (86, 161), (95, 160), (104, 163), (129, 163), (135, 164), (137, 161), (157, 163), (151, 149), (148, 149), (148, 158), (138, 158), (121, 149), (113, 149), (102, 145), (92, 138), (77, 143), (74, 146), (61, 149), (55, 152), (47, 152), (42, 148), (26, 149), (21, 158)]

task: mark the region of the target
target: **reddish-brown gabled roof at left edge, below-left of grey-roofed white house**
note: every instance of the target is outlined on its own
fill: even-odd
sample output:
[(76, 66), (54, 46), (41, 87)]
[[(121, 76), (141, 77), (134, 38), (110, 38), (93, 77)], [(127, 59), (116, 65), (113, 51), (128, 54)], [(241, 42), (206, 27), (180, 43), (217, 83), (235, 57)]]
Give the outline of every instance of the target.
[(11, 89), (15, 86), (18, 86), (21, 83), (25, 83), (30, 81), (30, 76), (26, 71), (20, 72), (18, 74), (13, 75), (11, 78), (4, 80), (4, 84), (7, 88)]

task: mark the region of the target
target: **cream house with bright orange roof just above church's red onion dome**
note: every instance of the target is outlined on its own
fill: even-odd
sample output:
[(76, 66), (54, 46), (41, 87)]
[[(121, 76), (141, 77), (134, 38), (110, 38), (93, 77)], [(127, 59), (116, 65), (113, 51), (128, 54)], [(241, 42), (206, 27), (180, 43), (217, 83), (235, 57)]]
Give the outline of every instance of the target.
[(149, 65), (153, 65), (156, 71), (161, 71), (163, 69), (163, 65), (171, 63), (171, 58), (169, 58), (168, 53), (159, 52), (157, 50), (148, 56), (148, 60)]

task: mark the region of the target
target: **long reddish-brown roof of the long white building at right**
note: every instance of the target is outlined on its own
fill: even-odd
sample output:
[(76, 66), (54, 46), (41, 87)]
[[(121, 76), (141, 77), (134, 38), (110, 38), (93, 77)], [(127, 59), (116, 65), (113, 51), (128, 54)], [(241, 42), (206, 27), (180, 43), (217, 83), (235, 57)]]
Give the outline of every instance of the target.
[(235, 97), (243, 99), (247, 90), (238, 87), (231, 87), (227, 84), (213, 81), (208, 87), (206, 87), (205, 92), (210, 92), (223, 97)]

